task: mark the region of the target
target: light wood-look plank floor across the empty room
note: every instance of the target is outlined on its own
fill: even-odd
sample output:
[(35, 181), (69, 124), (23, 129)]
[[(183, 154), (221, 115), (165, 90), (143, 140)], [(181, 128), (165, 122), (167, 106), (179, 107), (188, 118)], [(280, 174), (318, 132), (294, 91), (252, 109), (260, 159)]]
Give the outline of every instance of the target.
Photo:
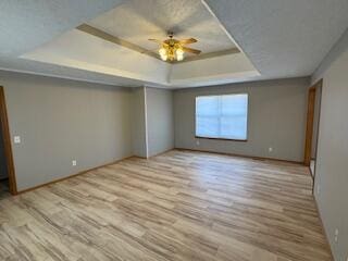
[(173, 150), (0, 201), (0, 260), (332, 260), (303, 166)]

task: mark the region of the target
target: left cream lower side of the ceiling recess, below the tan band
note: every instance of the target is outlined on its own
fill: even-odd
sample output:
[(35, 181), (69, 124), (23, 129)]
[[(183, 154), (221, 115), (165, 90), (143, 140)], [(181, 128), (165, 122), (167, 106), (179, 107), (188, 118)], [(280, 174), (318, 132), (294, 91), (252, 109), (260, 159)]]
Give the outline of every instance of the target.
[(22, 58), (162, 85), (167, 84), (170, 71), (169, 63), (78, 29), (65, 33)]

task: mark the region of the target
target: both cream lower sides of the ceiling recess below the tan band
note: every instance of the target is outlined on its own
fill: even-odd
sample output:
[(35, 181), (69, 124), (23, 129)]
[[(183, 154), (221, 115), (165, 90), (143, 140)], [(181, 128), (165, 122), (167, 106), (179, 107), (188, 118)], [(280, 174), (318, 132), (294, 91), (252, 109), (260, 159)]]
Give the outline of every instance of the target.
[(208, 79), (221, 76), (235, 80), (259, 75), (243, 53), (170, 64), (78, 29), (67, 32), (21, 58), (142, 80), (164, 88), (207, 85)]

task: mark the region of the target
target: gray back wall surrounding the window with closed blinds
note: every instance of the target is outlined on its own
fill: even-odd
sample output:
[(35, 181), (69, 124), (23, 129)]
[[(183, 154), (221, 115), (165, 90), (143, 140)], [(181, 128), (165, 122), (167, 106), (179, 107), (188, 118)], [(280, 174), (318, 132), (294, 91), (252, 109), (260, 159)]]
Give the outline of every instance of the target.
[[(309, 84), (294, 78), (175, 90), (175, 147), (303, 161)], [(249, 94), (248, 141), (197, 140), (195, 97), (238, 92)]]

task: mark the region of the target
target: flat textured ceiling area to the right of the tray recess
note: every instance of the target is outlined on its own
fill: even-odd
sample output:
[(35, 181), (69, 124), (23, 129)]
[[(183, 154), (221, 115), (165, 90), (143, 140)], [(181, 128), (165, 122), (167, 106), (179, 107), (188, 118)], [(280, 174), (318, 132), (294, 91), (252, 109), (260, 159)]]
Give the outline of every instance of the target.
[(204, 0), (263, 78), (311, 75), (348, 26), (347, 0)]

